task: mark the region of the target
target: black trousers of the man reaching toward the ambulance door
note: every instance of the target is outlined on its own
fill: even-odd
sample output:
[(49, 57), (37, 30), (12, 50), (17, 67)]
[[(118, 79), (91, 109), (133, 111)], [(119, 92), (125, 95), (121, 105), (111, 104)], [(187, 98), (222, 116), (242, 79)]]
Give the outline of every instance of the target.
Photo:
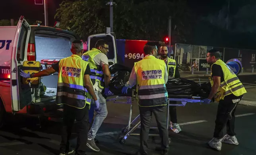
[(78, 126), (76, 155), (85, 155), (87, 136), (89, 130), (89, 105), (87, 104), (83, 109), (78, 109), (64, 104), (63, 112), (64, 117), (60, 143), (60, 152), (64, 153), (70, 151), (69, 140), (72, 132), (72, 127), (76, 119)]

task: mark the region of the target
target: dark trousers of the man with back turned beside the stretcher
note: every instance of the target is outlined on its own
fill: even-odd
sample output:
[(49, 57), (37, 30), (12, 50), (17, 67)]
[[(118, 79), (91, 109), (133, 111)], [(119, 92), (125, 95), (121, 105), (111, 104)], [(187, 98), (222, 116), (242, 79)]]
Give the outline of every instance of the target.
[(155, 115), (161, 138), (161, 149), (168, 149), (169, 136), (167, 129), (167, 106), (140, 107), (140, 153), (147, 153), (147, 140), (152, 113)]

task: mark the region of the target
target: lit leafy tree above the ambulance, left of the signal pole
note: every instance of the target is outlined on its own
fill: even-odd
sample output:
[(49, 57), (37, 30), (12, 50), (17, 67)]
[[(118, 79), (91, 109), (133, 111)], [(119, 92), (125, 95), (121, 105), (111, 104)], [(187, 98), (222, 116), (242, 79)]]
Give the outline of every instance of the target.
[(70, 29), (85, 39), (90, 34), (105, 32), (106, 3), (102, 0), (63, 1), (54, 18), (60, 28)]

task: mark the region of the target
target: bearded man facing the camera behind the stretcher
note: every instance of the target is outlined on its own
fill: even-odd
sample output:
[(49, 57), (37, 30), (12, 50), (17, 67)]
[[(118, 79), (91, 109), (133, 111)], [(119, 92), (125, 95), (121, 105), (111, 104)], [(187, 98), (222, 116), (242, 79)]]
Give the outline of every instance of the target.
[[(168, 79), (179, 78), (180, 73), (178, 72), (178, 66), (176, 65), (176, 61), (167, 57), (168, 49), (166, 45), (162, 45), (159, 49), (160, 59), (165, 61), (167, 66), (167, 74)], [(176, 101), (170, 102), (170, 104), (176, 104)], [(180, 126), (177, 121), (177, 111), (176, 106), (169, 106), (170, 118), (171, 118), (171, 129), (175, 133), (179, 133), (181, 131)]]

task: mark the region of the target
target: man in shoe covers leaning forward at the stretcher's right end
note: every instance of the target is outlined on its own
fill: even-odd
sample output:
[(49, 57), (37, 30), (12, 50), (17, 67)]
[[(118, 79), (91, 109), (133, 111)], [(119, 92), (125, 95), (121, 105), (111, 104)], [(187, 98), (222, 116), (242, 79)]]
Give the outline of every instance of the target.
[[(232, 145), (238, 145), (235, 133), (235, 110), (237, 104), (246, 93), (244, 86), (236, 74), (220, 60), (220, 53), (211, 49), (207, 53), (207, 62), (211, 65), (211, 92), (208, 98), (202, 100), (202, 103), (209, 104), (214, 97), (219, 101), (217, 117), (215, 120), (215, 130), (213, 138), (208, 142), (209, 146), (221, 150), (222, 142)], [(223, 129), (227, 126), (227, 134), (223, 136)]]

